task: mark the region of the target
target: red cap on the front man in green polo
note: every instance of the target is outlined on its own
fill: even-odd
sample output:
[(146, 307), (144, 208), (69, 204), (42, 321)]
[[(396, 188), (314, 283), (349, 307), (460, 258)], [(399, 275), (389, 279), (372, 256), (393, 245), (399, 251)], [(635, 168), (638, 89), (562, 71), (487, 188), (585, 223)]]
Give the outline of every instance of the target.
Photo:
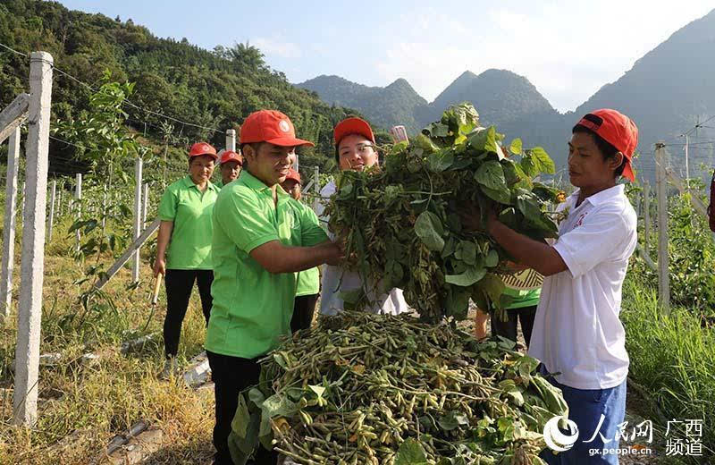
[(240, 127), (240, 143), (268, 142), (281, 147), (309, 145), (309, 140), (297, 139), (296, 129), (290, 118), (276, 110), (259, 110), (248, 114)]

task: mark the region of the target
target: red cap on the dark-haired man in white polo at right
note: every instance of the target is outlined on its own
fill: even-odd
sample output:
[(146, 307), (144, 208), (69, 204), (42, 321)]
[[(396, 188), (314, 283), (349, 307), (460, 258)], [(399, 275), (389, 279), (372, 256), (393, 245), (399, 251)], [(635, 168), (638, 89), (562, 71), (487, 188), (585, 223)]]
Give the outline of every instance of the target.
[(634, 182), (635, 173), (631, 160), (635, 146), (638, 145), (638, 127), (633, 120), (616, 110), (601, 108), (586, 114), (578, 124), (601, 136), (601, 139), (610, 143), (626, 157), (627, 164), (623, 168), (623, 177)]

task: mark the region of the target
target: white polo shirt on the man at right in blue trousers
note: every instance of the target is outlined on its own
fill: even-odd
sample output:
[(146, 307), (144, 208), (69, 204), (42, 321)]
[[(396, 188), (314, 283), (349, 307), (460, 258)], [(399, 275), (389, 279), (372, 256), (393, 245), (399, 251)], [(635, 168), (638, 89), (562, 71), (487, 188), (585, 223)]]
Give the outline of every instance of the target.
[(576, 207), (578, 192), (558, 208), (568, 208), (568, 216), (551, 245), (568, 269), (543, 280), (529, 355), (562, 385), (607, 389), (628, 375), (626, 331), (618, 315), (637, 216), (623, 185)]

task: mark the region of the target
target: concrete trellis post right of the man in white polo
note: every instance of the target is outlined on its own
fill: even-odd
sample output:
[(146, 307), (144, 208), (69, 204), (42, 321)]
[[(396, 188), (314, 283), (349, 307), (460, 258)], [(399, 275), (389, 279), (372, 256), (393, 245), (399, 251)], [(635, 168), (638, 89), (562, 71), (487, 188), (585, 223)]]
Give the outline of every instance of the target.
[(665, 143), (655, 144), (655, 179), (658, 196), (658, 300), (665, 313), (670, 311), (670, 276), (668, 274), (668, 180), (666, 179)]

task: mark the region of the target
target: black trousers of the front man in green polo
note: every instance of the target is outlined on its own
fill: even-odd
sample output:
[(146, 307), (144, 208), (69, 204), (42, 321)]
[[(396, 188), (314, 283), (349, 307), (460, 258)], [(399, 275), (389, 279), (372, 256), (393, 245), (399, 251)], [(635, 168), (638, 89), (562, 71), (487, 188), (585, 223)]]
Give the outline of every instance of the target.
[[(216, 400), (216, 424), (214, 426), (214, 465), (233, 465), (229, 452), (229, 434), (231, 421), (239, 406), (239, 394), (250, 385), (258, 383), (261, 367), (257, 359), (241, 359), (206, 351), (214, 381)], [(278, 461), (278, 452), (266, 451), (261, 444), (255, 454), (257, 465), (274, 465)], [(248, 461), (248, 463), (251, 463)]]

